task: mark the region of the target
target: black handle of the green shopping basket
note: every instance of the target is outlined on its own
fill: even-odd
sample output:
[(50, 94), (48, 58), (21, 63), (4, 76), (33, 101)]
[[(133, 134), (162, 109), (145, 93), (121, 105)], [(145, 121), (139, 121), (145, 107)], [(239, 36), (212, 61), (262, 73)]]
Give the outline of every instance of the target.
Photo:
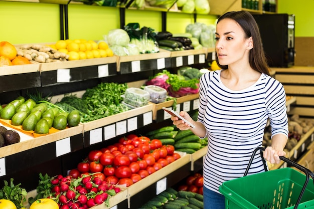
[[(264, 157), (263, 157), (263, 152), (262, 152), (262, 151), (265, 151), (265, 147), (257, 147), (257, 148), (253, 151), (253, 154), (252, 154), (252, 156), (251, 156), (251, 159), (250, 159), (250, 161), (249, 161), (249, 163), (248, 163), (248, 165), (247, 165), (247, 168), (246, 168), (246, 170), (245, 170), (245, 172), (244, 172), (244, 176), (247, 175), (247, 173), (248, 173), (248, 171), (249, 171), (249, 168), (250, 168), (250, 166), (251, 166), (251, 164), (252, 164), (252, 161), (253, 161), (253, 159), (254, 159), (254, 156), (255, 156), (255, 154), (256, 154), (256, 152), (257, 152), (258, 150), (260, 151), (260, 154), (261, 154), (261, 158), (262, 158), (262, 161), (263, 161), (263, 165), (264, 165), (265, 171), (267, 171), (266, 161), (265, 161), (265, 159), (264, 159)], [(290, 159), (288, 159), (288, 158), (286, 158), (286, 157), (279, 156), (279, 158), (280, 158), (282, 161), (288, 163), (289, 165), (292, 165), (292, 166), (296, 167), (297, 169), (299, 169), (299, 170), (301, 170), (301, 171), (303, 171), (303, 172), (305, 173), (306, 179), (305, 179), (304, 185), (303, 185), (302, 190), (301, 190), (301, 192), (300, 192), (300, 195), (299, 195), (299, 197), (298, 197), (298, 199), (297, 199), (297, 201), (296, 201), (296, 203), (295, 203), (295, 205), (294, 205), (294, 209), (296, 209), (297, 206), (299, 205), (300, 201), (301, 201), (302, 195), (303, 195), (303, 193), (304, 193), (304, 191), (305, 191), (305, 188), (306, 188), (306, 186), (307, 186), (307, 183), (308, 183), (308, 181), (309, 181), (309, 176), (312, 177), (312, 180), (313, 180), (313, 183), (314, 183), (314, 174), (313, 174), (309, 169), (303, 167), (302, 165), (300, 165), (300, 164), (298, 164), (298, 163), (296, 163), (296, 162), (294, 162), (294, 161), (292, 161), (292, 160), (290, 160)]]

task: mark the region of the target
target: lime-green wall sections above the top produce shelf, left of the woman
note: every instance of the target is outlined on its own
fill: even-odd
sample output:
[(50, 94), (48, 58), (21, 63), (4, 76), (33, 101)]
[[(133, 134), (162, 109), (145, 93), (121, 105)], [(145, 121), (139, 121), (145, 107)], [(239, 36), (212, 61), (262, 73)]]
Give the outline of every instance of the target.
[[(216, 16), (198, 15), (198, 22), (215, 23)], [(0, 41), (12, 44), (54, 43), (60, 40), (59, 5), (0, 1)], [(125, 23), (139, 23), (162, 30), (162, 13), (126, 10)], [(167, 30), (184, 33), (194, 23), (191, 14), (167, 13)], [(110, 7), (68, 5), (69, 39), (101, 40), (111, 29), (120, 28), (119, 9)]]

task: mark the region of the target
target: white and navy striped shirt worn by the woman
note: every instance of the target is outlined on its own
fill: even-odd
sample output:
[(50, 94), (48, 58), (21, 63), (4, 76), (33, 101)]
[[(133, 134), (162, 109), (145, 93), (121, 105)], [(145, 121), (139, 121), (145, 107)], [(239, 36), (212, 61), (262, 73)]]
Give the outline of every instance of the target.
[[(288, 136), (285, 91), (280, 82), (261, 74), (254, 85), (233, 91), (222, 84), (220, 72), (200, 78), (198, 116), (208, 137), (204, 186), (216, 192), (224, 181), (243, 176), (253, 150), (262, 145), (268, 118), (272, 136)], [(264, 171), (257, 153), (248, 175)]]

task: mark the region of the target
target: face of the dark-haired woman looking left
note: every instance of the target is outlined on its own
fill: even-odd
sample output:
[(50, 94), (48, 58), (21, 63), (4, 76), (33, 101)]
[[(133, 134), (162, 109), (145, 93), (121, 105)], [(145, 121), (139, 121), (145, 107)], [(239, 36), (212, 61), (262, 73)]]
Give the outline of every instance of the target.
[(241, 26), (232, 19), (221, 20), (216, 27), (216, 53), (220, 65), (248, 63), (252, 37), (246, 38)]

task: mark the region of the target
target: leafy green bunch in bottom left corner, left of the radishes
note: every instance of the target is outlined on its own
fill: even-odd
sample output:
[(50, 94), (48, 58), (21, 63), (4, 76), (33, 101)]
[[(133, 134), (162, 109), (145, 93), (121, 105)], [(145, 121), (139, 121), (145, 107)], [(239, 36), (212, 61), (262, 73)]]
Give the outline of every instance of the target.
[(0, 199), (11, 200), (17, 208), (24, 207), (23, 203), (26, 202), (27, 191), (25, 188), (20, 187), (21, 183), (14, 185), (13, 178), (10, 179), (10, 185), (8, 181), (4, 180), (5, 186), (0, 189)]

